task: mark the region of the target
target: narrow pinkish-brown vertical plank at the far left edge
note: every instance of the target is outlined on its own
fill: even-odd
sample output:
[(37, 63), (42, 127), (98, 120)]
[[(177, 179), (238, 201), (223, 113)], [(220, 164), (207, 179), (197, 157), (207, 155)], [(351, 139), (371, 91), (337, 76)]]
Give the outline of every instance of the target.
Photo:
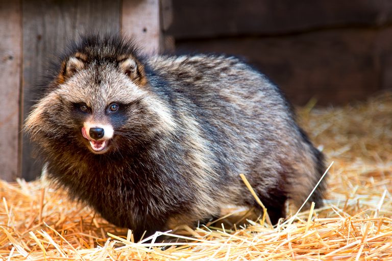
[(18, 172), (21, 28), (19, 1), (0, 0), (0, 178)]

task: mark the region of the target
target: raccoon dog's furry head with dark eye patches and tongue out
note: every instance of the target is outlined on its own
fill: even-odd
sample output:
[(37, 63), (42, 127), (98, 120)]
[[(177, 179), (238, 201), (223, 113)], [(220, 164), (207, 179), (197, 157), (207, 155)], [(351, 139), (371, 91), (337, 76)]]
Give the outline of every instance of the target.
[(74, 145), (102, 154), (174, 127), (134, 46), (118, 37), (83, 38), (46, 88), (26, 120), (26, 130), (43, 149)]

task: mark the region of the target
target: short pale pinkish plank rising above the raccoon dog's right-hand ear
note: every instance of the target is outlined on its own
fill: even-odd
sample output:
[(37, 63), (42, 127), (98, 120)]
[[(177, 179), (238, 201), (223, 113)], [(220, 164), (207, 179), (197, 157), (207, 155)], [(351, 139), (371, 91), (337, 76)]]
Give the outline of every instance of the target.
[(123, 0), (121, 33), (134, 37), (145, 54), (163, 51), (159, 0)]

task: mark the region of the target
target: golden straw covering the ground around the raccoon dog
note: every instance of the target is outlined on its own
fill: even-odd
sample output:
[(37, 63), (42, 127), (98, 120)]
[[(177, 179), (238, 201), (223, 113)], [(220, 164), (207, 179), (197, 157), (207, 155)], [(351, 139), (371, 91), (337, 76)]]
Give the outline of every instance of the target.
[[(334, 161), (320, 210), (293, 214), (276, 228), (227, 221), (183, 227), (176, 231), (182, 236), (162, 233), (166, 243), (134, 243), (127, 230), (69, 202), (63, 191), (40, 181), (0, 182), (0, 259), (392, 259), (392, 95), (344, 108), (310, 104), (299, 116), (328, 162)], [(237, 221), (246, 217), (241, 215)]]

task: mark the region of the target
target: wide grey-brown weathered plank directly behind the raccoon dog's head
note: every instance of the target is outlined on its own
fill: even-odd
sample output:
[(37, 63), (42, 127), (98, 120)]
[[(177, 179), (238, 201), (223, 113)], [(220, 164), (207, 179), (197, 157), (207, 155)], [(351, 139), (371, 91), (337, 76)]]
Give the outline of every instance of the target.
[[(33, 86), (48, 62), (55, 59), (68, 40), (85, 32), (120, 31), (120, 0), (23, 0), (23, 115), (34, 97)], [(23, 136), (22, 176), (40, 174), (42, 163), (32, 156), (34, 146)]]

